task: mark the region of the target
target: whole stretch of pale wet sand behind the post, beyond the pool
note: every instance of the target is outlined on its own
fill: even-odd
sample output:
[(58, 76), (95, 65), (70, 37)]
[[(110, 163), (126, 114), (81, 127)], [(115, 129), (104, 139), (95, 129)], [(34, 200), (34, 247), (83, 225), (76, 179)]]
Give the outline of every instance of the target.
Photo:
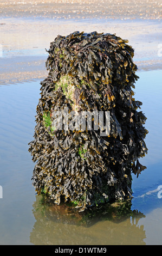
[(139, 70), (161, 69), (160, 1), (0, 0), (0, 83), (43, 80), (50, 42), (74, 31), (129, 40)]

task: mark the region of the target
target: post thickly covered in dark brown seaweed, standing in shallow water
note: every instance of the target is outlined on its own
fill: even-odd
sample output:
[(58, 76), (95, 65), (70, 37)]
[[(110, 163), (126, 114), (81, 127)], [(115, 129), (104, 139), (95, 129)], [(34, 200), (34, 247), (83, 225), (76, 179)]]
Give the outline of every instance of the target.
[(132, 172), (146, 168), (139, 163), (147, 153), (146, 117), (133, 97), (139, 77), (127, 42), (74, 32), (50, 44), (29, 151), (37, 193), (56, 204), (83, 210), (130, 198)]

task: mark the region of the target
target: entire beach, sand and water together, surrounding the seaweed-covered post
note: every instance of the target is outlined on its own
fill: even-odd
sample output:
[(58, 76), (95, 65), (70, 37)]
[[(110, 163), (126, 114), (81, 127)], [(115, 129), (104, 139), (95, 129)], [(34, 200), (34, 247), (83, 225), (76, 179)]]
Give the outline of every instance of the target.
[[(0, 0), (1, 245), (161, 245), (161, 9), (159, 0)], [(148, 130), (148, 154), (140, 158), (147, 169), (138, 179), (132, 173), (129, 207), (82, 215), (87, 226), (36, 193), (29, 152), (50, 42), (74, 31), (129, 41), (139, 76), (134, 97)]]

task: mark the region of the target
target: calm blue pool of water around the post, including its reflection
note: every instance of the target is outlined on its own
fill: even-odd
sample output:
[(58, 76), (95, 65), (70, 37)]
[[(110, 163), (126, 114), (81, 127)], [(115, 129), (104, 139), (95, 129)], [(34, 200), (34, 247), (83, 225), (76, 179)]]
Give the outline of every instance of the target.
[[(1, 245), (162, 245), (162, 103), (161, 70), (137, 72), (135, 99), (147, 117), (147, 166), (137, 179), (133, 199), (124, 216), (90, 216), (79, 224), (62, 208), (42, 204), (31, 176), (34, 163), (28, 152), (33, 139), (40, 81), (0, 86), (0, 244)], [(162, 193), (161, 193), (162, 195)], [(138, 214), (132, 214), (136, 210)], [(85, 225), (88, 223), (88, 225)]]

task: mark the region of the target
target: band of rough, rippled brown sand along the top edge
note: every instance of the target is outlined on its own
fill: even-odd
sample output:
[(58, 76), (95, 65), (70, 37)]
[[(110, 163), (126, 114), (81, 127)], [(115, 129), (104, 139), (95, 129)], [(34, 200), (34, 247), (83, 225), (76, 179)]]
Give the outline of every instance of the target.
[(70, 19), (161, 19), (161, 1), (150, 0), (34, 0), (0, 1), (0, 14), (15, 17)]

